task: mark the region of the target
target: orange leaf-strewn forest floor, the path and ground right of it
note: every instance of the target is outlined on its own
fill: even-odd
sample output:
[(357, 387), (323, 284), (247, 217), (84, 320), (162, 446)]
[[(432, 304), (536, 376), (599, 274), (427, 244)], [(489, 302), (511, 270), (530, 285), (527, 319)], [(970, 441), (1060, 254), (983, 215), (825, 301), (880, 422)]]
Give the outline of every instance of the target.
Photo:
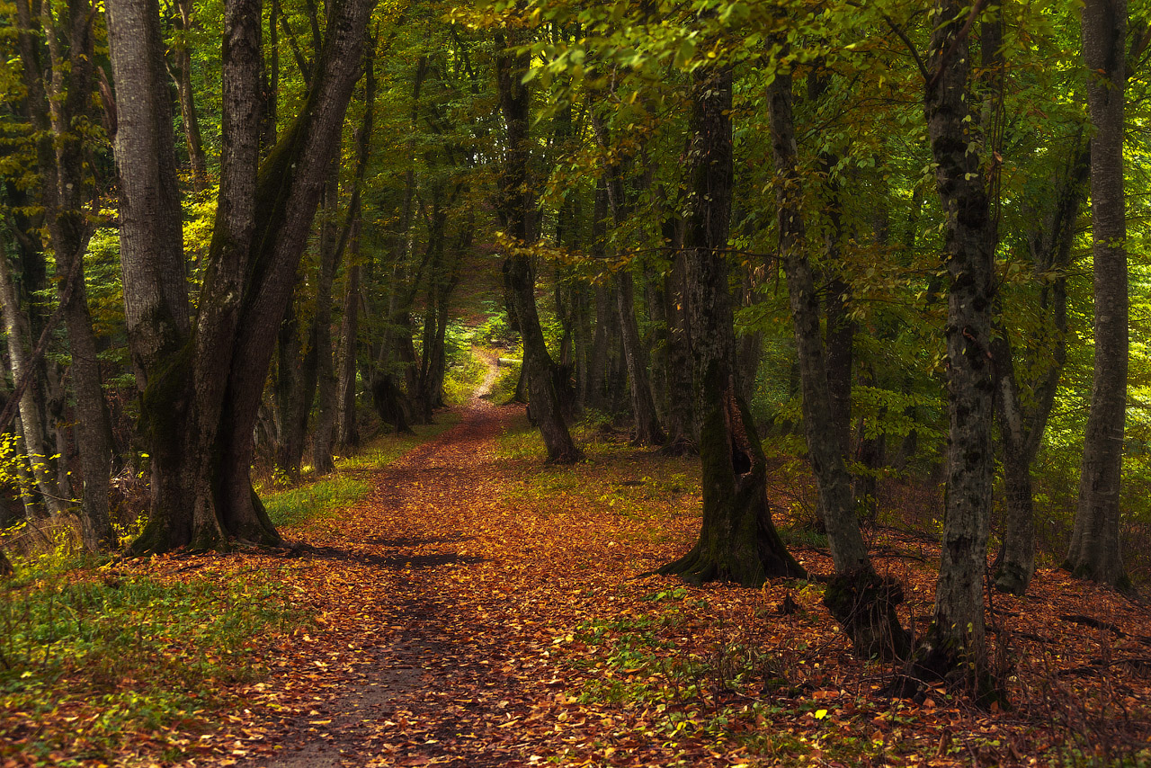
[[(490, 377), (489, 382), (490, 385)], [(290, 527), (283, 553), (121, 563), (157, 578), (256, 575), (303, 616), (250, 644), (258, 682), (140, 733), (116, 765), (1142, 765), (1151, 760), (1151, 621), (1138, 602), (1042, 570), (996, 596), (997, 674), (1014, 708), (881, 695), (822, 586), (695, 588), (641, 576), (699, 529), (698, 462), (602, 434), (549, 467), (523, 408), (473, 398), (350, 509)], [(783, 520), (785, 523), (786, 520)], [(813, 572), (816, 537), (788, 532)], [(806, 538), (805, 538), (806, 537)], [(931, 613), (938, 550), (881, 531), (904, 621)], [(23, 765), (18, 754), (0, 765)], [(98, 765), (99, 760), (91, 761)], [(43, 763), (41, 763), (43, 765)]]

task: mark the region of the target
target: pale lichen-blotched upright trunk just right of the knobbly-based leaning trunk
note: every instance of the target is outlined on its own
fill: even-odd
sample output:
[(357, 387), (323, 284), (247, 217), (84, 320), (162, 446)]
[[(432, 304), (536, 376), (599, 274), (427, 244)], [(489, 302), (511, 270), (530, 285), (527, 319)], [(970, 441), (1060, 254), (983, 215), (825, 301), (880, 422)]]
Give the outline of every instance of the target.
[(937, 0), (924, 113), (946, 215), (947, 492), (935, 616), (916, 653), (922, 674), (988, 693), (983, 586), (994, 456), (991, 446), (991, 304), (994, 222), (968, 123), (970, 52), (959, 0)]

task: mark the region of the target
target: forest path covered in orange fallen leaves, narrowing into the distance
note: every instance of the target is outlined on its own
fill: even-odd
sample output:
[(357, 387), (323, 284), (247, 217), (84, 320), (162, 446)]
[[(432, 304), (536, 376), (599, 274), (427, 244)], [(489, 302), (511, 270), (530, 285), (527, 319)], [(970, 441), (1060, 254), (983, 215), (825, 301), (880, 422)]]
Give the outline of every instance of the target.
[[(493, 363), (479, 391), (495, 379)], [(585, 730), (564, 715), (571, 670), (555, 644), (663, 555), (650, 543), (622, 552), (616, 540), (634, 520), (576, 529), (585, 510), (563, 501), (554, 516), (521, 507), (514, 488), (541, 461), (495, 450), (517, 418), (521, 406), (473, 397), (458, 425), (376, 471), (374, 491), (336, 527), (305, 532), (288, 569), (303, 576), (292, 583), (319, 625), (287, 654), (273, 649), (287, 659), (253, 686), (252, 710), (212, 737), (231, 755), (224, 765), (571, 765), (610, 747), (610, 722)], [(573, 728), (561, 737), (563, 721)]]

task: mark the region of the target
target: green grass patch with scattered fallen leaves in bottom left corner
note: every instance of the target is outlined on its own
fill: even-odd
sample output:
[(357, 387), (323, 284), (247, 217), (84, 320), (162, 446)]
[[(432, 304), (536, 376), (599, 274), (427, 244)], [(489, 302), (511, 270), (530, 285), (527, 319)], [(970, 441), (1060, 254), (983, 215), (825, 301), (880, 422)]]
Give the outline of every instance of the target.
[[(0, 587), (0, 756), (108, 759), (139, 738), (175, 758), (221, 686), (266, 674), (262, 652), (303, 617), (275, 579), (162, 581), (92, 558), (17, 560)], [(161, 736), (168, 733), (168, 736)]]

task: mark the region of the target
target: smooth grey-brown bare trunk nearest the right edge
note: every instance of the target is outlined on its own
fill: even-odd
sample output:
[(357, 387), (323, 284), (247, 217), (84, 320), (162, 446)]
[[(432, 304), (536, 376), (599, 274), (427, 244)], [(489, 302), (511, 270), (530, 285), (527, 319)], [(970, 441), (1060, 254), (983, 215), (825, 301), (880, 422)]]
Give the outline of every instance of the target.
[(1119, 491), (1127, 417), (1127, 220), (1123, 204), (1123, 93), (1127, 0), (1083, 7), (1091, 137), (1091, 253), (1095, 259), (1095, 374), (1083, 440), (1073, 576), (1129, 586), (1119, 540)]

